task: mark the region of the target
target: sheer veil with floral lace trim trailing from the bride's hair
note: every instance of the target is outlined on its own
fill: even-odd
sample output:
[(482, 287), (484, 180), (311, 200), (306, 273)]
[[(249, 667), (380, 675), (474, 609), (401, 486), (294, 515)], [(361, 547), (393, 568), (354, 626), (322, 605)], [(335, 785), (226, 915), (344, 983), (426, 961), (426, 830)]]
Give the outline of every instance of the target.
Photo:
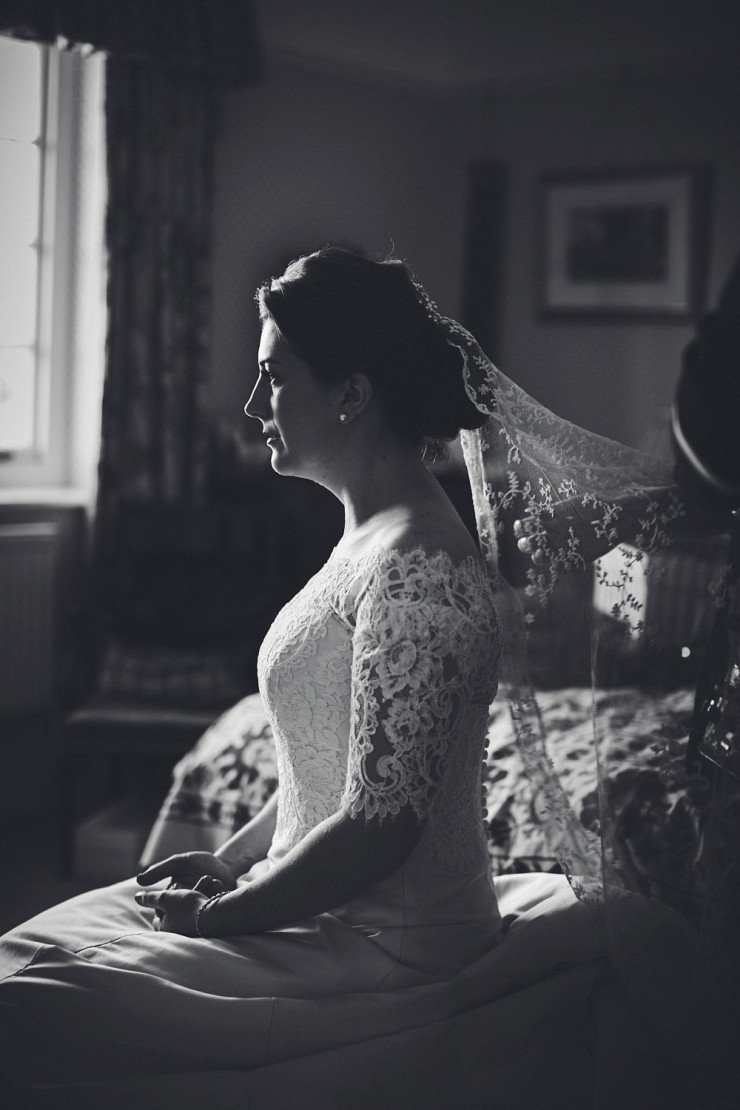
[[(524, 594), (541, 608), (562, 573), (582, 569), (617, 544), (635, 545), (631, 566), (645, 552), (670, 544), (683, 506), (670, 487), (670, 467), (556, 416), (494, 366), (469, 333), (454, 321), (446, 324), (460, 351), (468, 396), (490, 417), (483, 428), (463, 433), (463, 450), (504, 626), (500, 675), (517, 746), (533, 789), (545, 799), (547, 837), (575, 892), (600, 899), (601, 838), (598, 829), (584, 829), (548, 758), (527, 673), (527, 625), (535, 613), (525, 613), (501, 573), (499, 539), (519, 522), (528, 549), (537, 555)], [(642, 614), (631, 589), (631, 566), (625, 565), (619, 583), (608, 583), (602, 568), (597, 575), (601, 585), (617, 587), (614, 616), (639, 630)]]

